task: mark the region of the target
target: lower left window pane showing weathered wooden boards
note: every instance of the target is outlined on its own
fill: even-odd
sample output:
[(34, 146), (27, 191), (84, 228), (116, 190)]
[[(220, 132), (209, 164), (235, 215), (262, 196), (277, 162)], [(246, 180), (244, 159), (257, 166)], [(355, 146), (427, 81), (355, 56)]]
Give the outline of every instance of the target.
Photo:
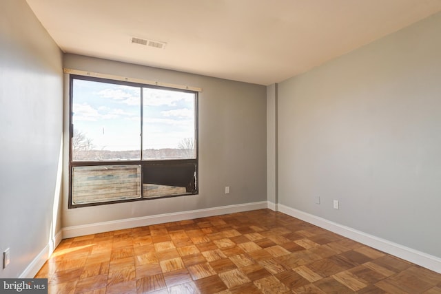
[(72, 204), (141, 198), (139, 165), (72, 167)]

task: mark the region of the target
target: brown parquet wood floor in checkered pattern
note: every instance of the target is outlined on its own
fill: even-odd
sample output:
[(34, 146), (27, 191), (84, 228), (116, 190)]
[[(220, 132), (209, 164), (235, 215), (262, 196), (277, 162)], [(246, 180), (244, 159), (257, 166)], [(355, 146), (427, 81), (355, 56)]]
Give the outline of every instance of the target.
[(269, 209), (66, 239), (49, 293), (441, 293), (441, 275)]

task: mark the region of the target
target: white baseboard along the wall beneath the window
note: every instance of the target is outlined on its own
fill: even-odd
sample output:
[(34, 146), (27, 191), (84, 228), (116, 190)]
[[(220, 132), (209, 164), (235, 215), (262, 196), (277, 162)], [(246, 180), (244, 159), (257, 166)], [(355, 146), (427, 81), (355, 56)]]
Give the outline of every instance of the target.
[(112, 220), (110, 222), (96, 222), (94, 224), (65, 227), (63, 228), (63, 238), (74, 238), (81, 235), (90, 235), (107, 231), (143, 227), (152, 224), (162, 224), (164, 222), (177, 222), (179, 220), (192, 220), (194, 218), (205, 218), (207, 216), (220, 216), (227, 213), (265, 209), (267, 207), (267, 201), (261, 201), (244, 204), (234, 204), (225, 207), (196, 209), (192, 211), (180, 211), (176, 213), (164, 213), (155, 216), (143, 216), (141, 218)]

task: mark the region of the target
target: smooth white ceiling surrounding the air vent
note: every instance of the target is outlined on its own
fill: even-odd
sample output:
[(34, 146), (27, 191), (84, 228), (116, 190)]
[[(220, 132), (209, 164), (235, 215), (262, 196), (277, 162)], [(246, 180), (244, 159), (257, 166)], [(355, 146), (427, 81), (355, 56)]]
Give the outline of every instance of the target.
[(260, 85), (441, 11), (441, 0), (27, 1), (63, 52)]

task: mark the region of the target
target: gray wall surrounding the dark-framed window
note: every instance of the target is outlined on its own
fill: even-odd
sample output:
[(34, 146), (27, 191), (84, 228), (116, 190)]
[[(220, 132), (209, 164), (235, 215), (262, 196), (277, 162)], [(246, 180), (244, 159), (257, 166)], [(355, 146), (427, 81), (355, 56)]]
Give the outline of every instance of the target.
[[(63, 227), (267, 200), (265, 86), (72, 54), (65, 54), (64, 65), (202, 87), (203, 92), (199, 95), (198, 195), (67, 209), (66, 185)], [(225, 186), (231, 189), (229, 195)]]

